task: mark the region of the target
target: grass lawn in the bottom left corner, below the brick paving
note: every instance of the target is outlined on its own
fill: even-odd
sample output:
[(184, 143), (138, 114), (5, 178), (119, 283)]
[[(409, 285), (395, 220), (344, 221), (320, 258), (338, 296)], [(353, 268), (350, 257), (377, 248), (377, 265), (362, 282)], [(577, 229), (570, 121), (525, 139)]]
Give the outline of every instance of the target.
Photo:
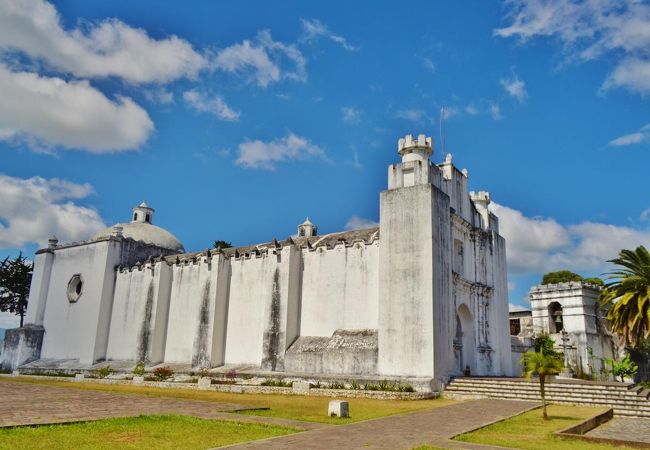
[(296, 430), (188, 416), (140, 416), (38, 427), (0, 428), (0, 449), (205, 449)]

